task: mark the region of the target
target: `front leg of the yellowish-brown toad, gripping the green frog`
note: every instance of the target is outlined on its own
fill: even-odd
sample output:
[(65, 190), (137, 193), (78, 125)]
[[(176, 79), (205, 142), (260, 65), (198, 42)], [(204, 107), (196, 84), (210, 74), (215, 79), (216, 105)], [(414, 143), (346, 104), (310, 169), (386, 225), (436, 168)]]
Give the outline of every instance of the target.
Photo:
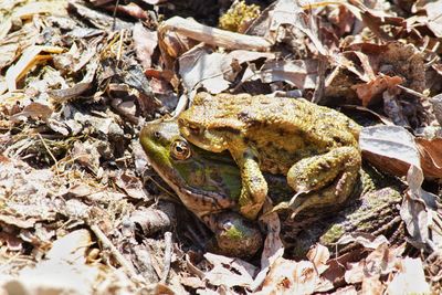
[(267, 182), (255, 155), (249, 147), (244, 148), (243, 152), (232, 154), (241, 171), (240, 212), (252, 220), (256, 219), (267, 196)]

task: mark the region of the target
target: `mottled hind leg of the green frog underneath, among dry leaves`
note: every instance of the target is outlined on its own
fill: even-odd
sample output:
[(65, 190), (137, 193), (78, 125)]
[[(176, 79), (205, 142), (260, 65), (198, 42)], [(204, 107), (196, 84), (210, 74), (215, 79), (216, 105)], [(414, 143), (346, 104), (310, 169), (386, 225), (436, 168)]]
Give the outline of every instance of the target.
[(370, 165), (364, 165), (360, 175), (361, 190), (343, 210), (330, 217), (318, 218), (309, 225), (301, 225), (301, 229), (296, 229), (299, 220), (290, 222), (297, 238), (288, 240), (292, 255), (302, 257), (317, 242), (329, 247), (333, 253), (345, 251), (346, 245), (336, 244), (344, 234), (383, 234), (387, 239), (404, 235), (403, 229), (399, 226), (399, 204), (404, 185), (396, 177), (380, 173)]

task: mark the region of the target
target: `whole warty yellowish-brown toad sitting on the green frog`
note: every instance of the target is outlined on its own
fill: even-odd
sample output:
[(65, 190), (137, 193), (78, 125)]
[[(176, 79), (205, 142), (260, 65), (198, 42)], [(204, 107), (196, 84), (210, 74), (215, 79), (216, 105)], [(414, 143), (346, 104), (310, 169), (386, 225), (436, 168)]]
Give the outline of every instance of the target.
[(240, 213), (255, 220), (269, 192), (263, 172), (284, 175), (295, 192), (293, 215), (344, 204), (361, 167), (361, 127), (343, 113), (304, 98), (198, 93), (178, 116), (183, 138), (229, 151), (241, 173)]

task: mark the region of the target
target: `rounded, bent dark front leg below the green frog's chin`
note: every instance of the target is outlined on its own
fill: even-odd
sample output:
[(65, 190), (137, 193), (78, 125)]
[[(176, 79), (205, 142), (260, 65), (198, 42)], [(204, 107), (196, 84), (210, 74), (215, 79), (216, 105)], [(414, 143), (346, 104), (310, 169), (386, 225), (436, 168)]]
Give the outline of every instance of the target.
[(203, 217), (204, 223), (214, 233), (211, 250), (229, 256), (253, 256), (263, 244), (263, 236), (256, 223), (242, 215), (224, 211)]

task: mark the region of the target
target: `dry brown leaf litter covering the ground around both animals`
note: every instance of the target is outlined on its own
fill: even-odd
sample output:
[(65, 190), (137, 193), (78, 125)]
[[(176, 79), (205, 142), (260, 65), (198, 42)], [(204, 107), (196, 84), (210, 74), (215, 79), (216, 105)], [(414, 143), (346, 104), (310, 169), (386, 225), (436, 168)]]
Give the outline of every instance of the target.
[[(1, 1), (2, 291), (440, 293), (441, 10), (442, 1)], [(235, 32), (215, 28), (220, 17)], [(203, 254), (208, 230), (137, 140), (146, 120), (178, 115), (202, 88), (303, 96), (371, 125), (364, 159), (400, 183), (386, 207), (399, 223), (375, 233), (347, 231), (355, 214), (327, 220), (344, 224), (327, 244), (303, 238), (326, 219), (287, 230), (272, 213), (261, 260)], [(360, 212), (387, 191), (366, 192)]]

